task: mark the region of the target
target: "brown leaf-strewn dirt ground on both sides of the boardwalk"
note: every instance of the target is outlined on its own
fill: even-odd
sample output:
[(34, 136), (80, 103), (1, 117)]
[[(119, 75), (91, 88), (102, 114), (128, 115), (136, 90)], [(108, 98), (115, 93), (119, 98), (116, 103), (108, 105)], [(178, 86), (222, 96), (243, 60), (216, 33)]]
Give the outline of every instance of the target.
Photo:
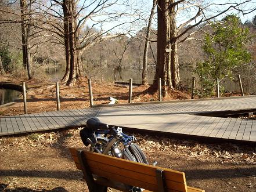
[[(1, 77), (0, 81), (13, 79)], [(54, 85), (38, 80), (26, 84), (28, 113), (56, 110)], [(157, 94), (138, 95), (146, 88), (133, 89), (134, 102), (157, 100)], [(62, 109), (88, 107), (86, 79), (74, 88), (60, 85), (60, 96)], [(93, 82), (93, 96), (97, 104), (107, 103), (109, 96), (127, 103), (128, 88)], [(177, 91), (165, 99), (187, 98), (188, 93)], [(23, 114), (22, 100), (0, 107), (0, 115), (15, 114)], [(84, 147), (80, 129), (0, 137), (0, 191), (88, 191), (68, 151), (68, 147)], [(150, 164), (157, 161), (158, 166), (185, 172), (189, 186), (205, 191), (256, 191), (255, 146), (134, 134)]]

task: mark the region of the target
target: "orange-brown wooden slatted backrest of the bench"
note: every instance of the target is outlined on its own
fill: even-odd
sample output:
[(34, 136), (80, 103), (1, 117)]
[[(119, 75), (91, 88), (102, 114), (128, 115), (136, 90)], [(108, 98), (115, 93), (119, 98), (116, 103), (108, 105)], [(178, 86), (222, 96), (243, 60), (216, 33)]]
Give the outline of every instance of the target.
[[(82, 170), (80, 162), (80, 157), (82, 157), (82, 161), (88, 166), (93, 175), (150, 191), (159, 191), (159, 185), (161, 184), (164, 184), (167, 191), (188, 191), (185, 173), (183, 172), (140, 164), (89, 151), (80, 151), (75, 148), (70, 148), (70, 152), (77, 168)], [(164, 183), (159, 180), (159, 174), (162, 174)], [(197, 189), (193, 189), (193, 187), (190, 187), (189, 191), (197, 191)]]

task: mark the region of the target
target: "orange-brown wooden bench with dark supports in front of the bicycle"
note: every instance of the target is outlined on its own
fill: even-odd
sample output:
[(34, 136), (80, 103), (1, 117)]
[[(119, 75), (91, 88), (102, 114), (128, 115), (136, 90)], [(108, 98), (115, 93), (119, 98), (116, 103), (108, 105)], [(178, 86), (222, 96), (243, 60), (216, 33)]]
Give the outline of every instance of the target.
[(127, 186), (140, 187), (144, 191), (204, 191), (187, 186), (183, 172), (76, 148), (70, 148), (70, 152), (91, 192), (107, 191), (107, 187), (128, 191)]

